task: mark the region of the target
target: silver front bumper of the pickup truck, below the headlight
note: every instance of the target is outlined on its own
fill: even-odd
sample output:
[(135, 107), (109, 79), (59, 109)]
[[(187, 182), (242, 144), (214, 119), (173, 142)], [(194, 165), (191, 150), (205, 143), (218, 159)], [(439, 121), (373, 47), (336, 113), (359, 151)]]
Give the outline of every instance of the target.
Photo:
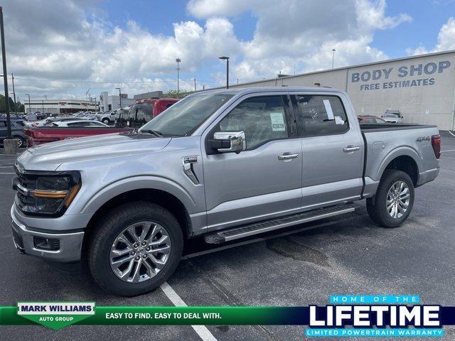
[[(13, 229), (13, 242), (21, 254), (37, 256), (47, 261), (73, 262), (80, 261), (82, 239), (84, 232), (71, 233), (48, 233), (37, 232), (28, 229), (25, 224), (19, 222), (11, 208), (11, 225)], [(48, 250), (37, 246), (36, 238), (58, 240), (58, 249)]]

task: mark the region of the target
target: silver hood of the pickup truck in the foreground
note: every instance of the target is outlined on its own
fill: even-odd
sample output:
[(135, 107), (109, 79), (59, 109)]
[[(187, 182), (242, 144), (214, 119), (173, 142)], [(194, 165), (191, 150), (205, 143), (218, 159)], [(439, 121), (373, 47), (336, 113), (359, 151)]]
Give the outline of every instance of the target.
[(68, 162), (132, 156), (159, 151), (170, 138), (156, 138), (142, 134), (105, 134), (51, 142), (28, 148), (17, 163), (28, 171), (55, 171)]

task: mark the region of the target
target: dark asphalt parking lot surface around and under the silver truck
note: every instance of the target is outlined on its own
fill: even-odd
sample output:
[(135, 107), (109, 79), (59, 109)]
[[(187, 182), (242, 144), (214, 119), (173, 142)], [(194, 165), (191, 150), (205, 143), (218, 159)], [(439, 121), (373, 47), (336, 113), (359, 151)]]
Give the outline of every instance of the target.
[[(417, 188), (414, 209), (397, 229), (376, 227), (365, 202), (322, 227), (229, 249), (196, 241), (169, 279), (187, 305), (309, 305), (333, 294), (415, 294), (422, 303), (455, 305), (455, 137), (442, 133), (441, 171)], [(9, 210), (15, 157), (0, 155), (0, 305), (17, 301), (95, 301), (97, 305), (173, 305), (161, 289), (136, 298), (101, 291), (90, 277), (64, 273), (18, 254)], [(294, 227), (301, 229), (309, 225)], [(198, 254), (200, 253), (200, 254)], [(174, 297), (175, 298), (175, 297)], [(207, 326), (217, 340), (302, 340), (302, 326)], [(4, 340), (200, 340), (191, 326), (2, 327)], [(445, 329), (445, 340), (455, 330)]]

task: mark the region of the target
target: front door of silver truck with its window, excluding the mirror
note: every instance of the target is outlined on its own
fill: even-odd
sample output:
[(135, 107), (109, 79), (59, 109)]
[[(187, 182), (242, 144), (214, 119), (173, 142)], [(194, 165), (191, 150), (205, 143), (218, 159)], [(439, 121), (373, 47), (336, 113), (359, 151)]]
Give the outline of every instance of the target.
[(301, 143), (287, 95), (242, 99), (213, 127), (244, 131), (247, 150), (217, 153), (205, 144), (203, 168), (208, 230), (299, 212)]

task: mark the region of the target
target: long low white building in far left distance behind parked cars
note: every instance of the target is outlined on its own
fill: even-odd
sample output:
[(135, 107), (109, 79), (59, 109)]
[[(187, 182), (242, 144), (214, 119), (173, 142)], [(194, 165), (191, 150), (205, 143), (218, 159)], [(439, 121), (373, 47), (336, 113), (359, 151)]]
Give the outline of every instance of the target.
[(26, 113), (70, 114), (73, 112), (97, 112), (100, 103), (84, 99), (30, 99), (30, 102), (26, 99), (23, 104)]

